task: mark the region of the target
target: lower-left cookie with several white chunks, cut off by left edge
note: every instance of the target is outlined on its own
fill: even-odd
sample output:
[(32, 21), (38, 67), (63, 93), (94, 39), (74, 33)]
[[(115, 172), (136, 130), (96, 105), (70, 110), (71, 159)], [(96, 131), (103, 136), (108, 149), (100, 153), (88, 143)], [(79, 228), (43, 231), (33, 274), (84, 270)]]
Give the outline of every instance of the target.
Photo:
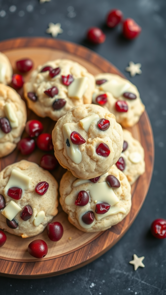
[[(37, 164), (22, 160), (0, 172), (0, 228), (32, 237), (58, 213), (58, 184)], [(4, 204), (4, 205), (3, 205)]]

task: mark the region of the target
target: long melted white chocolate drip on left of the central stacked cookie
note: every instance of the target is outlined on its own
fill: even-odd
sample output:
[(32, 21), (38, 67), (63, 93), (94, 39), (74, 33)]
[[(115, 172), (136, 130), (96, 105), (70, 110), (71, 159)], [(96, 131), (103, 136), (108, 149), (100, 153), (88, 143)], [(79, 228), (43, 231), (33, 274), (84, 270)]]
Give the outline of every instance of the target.
[[(62, 132), (64, 135), (64, 145), (66, 147), (66, 152), (68, 157), (75, 163), (79, 164), (82, 161), (82, 154), (79, 150), (78, 145), (74, 145), (70, 139), (71, 129), (69, 123), (63, 125)], [(67, 141), (68, 140), (68, 141)], [(68, 146), (67, 143), (68, 142)]]

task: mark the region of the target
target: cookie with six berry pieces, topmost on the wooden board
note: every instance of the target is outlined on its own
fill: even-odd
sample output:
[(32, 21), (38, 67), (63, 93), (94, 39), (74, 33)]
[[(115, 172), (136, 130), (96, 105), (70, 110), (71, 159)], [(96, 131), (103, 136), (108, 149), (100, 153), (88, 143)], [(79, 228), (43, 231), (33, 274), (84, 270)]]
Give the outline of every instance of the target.
[(39, 117), (57, 121), (74, 106), (91, 103), (94, 89), (95, 78), (86, 68), (72, 60), (57, 59), (32, 72), (24, 84), (24, 95)]

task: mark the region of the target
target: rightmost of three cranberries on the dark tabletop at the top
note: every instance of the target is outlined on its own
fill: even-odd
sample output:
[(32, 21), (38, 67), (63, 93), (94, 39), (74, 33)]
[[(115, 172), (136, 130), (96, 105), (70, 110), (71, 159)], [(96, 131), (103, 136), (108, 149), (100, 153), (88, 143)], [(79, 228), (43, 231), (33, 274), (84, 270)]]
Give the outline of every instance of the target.
[(138, 37), (141, 32), (141, 27), (134, 21), (128, 18), (123, 22), (123, 36), (127, 39), (134, 39)]

